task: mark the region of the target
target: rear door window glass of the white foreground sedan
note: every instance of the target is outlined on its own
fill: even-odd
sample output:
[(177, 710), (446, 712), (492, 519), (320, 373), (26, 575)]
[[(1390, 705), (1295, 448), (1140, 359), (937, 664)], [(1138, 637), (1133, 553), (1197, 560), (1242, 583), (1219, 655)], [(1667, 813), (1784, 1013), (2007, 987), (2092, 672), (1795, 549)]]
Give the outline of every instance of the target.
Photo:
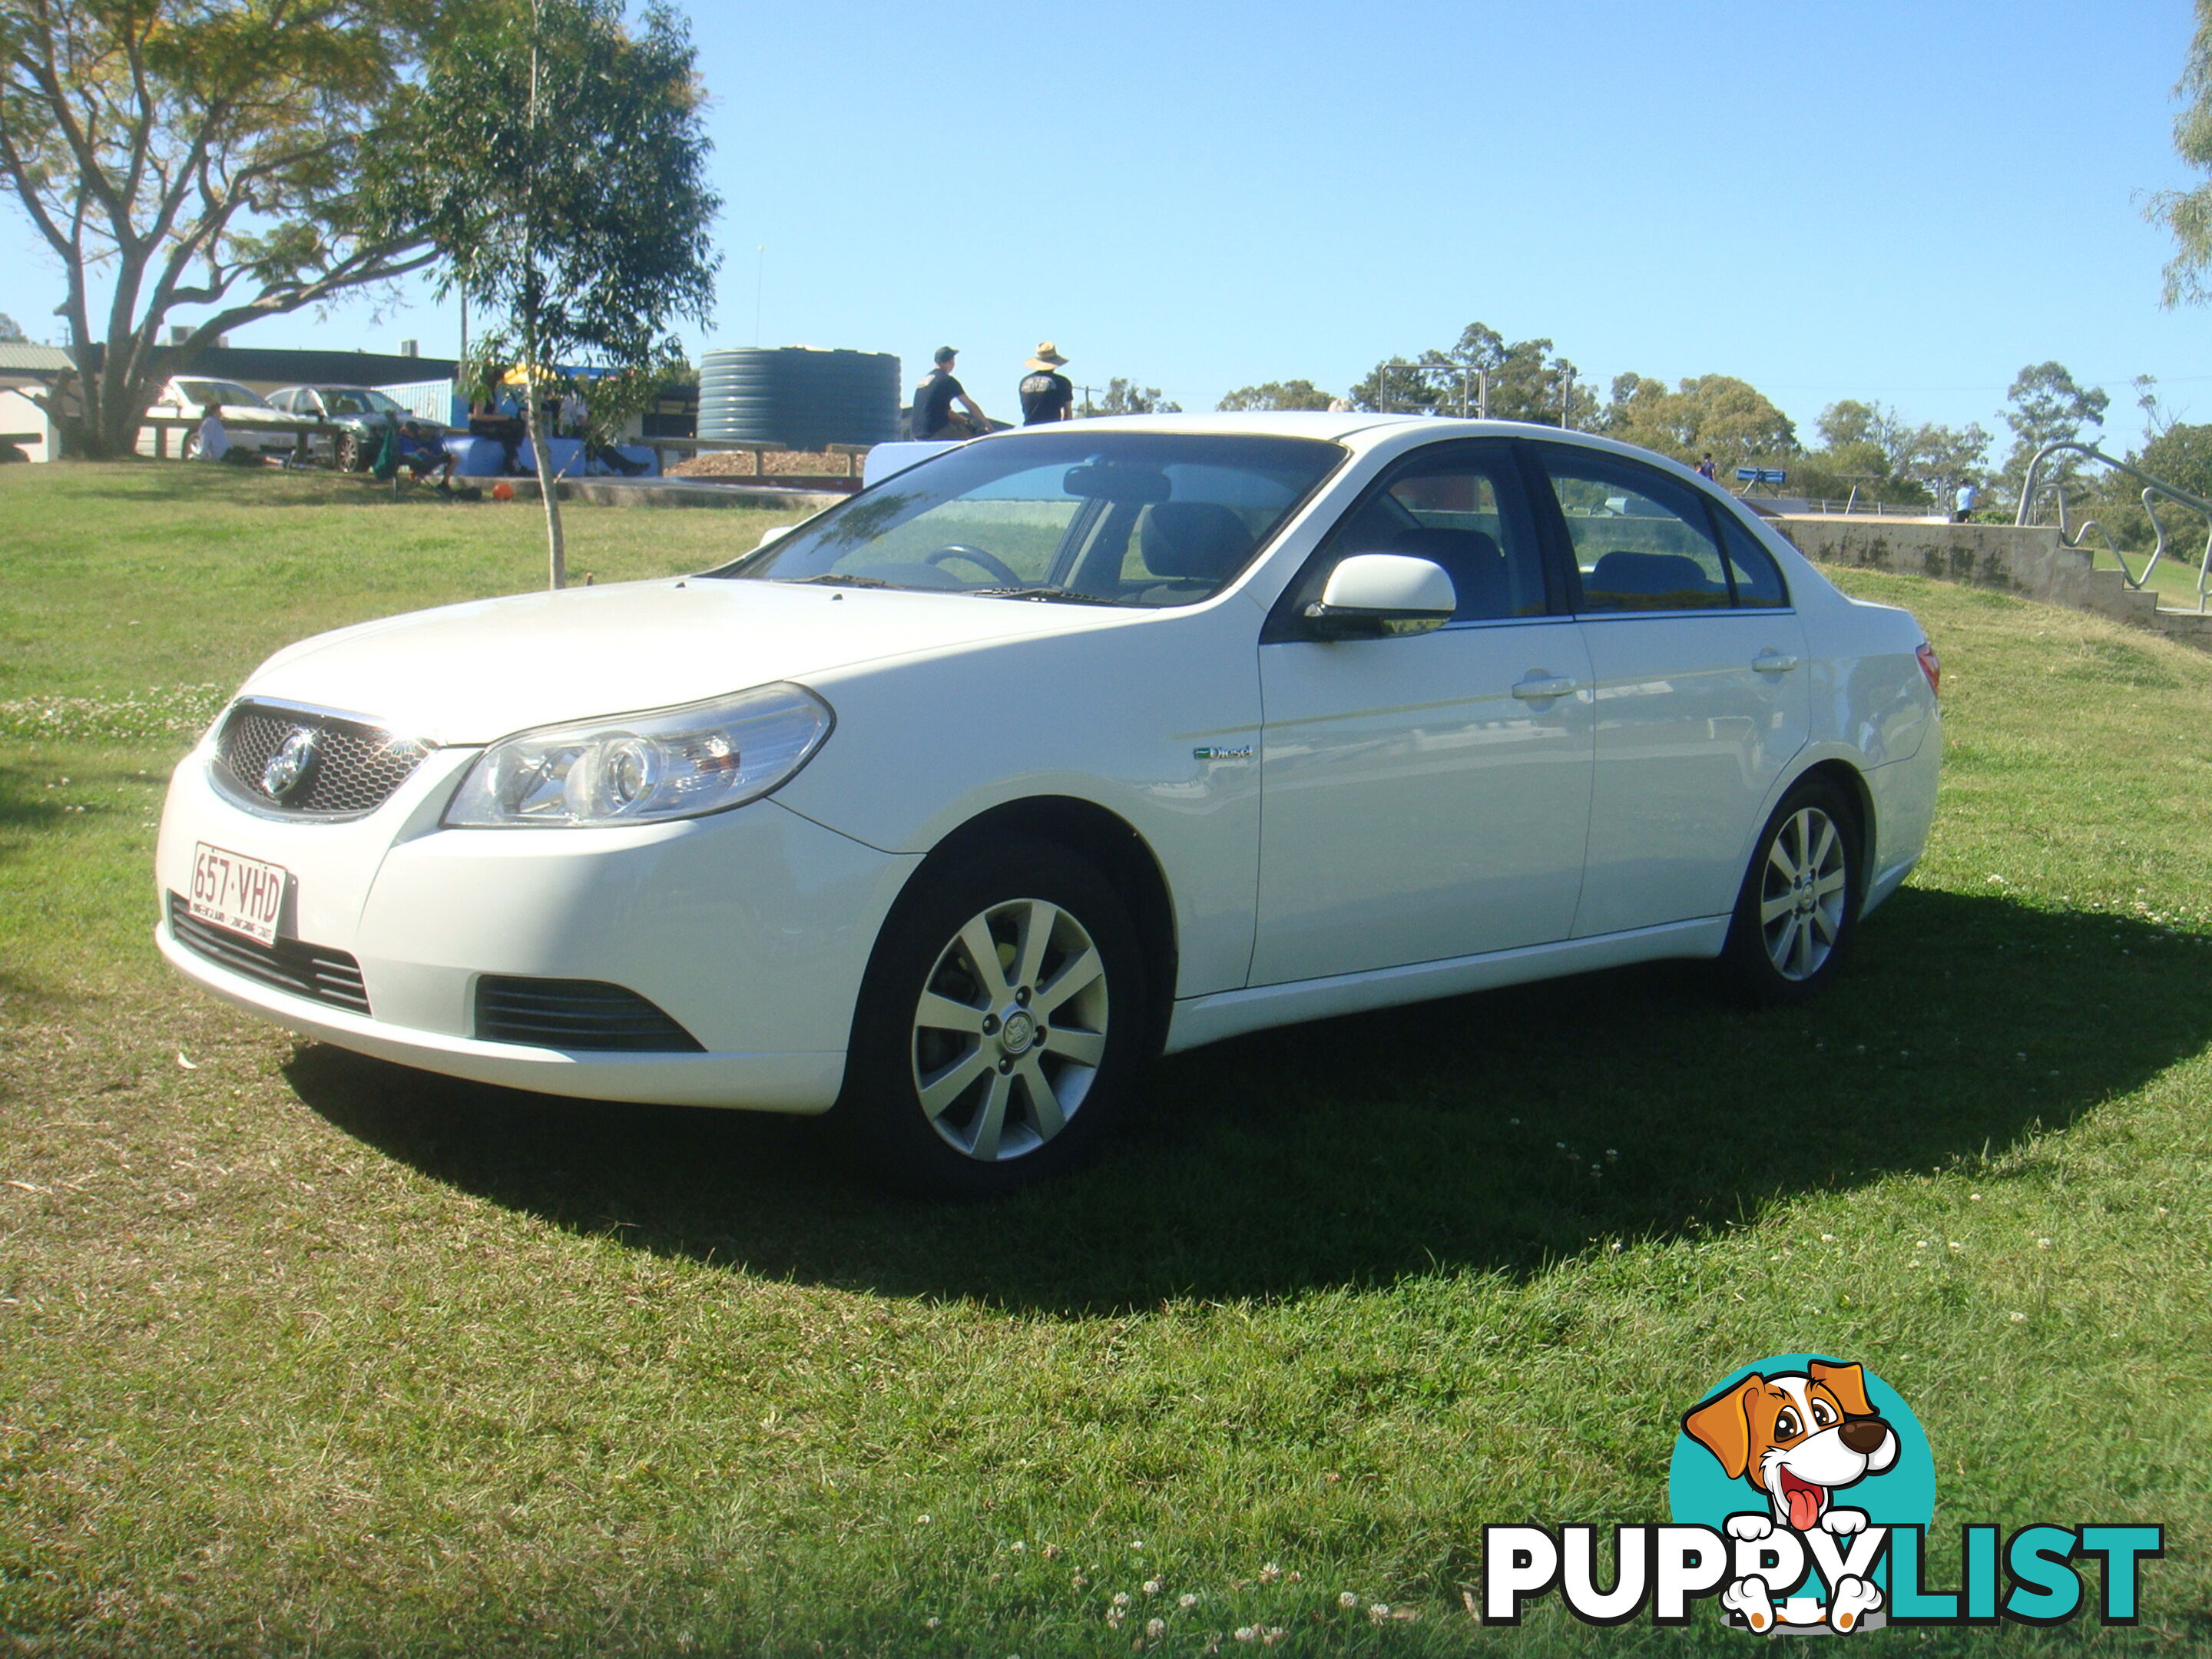
[(1582, 611), (1728, 611), (1728, 564), (1688, 484), (1610, 456), (1546, 449), (1582, 573)]

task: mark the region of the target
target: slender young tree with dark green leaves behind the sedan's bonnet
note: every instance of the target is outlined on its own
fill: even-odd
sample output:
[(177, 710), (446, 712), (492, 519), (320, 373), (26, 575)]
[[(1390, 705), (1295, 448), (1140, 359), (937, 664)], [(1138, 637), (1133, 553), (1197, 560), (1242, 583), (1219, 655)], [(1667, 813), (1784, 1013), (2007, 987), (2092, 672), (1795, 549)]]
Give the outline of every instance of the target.
[(392, 223), (418, 219), (440, 290), (462, 292), (515, 341), (546, 509), (551, 586), (566, 584), (544, 434), (564, 363), (648, 369), (681, 356), (677, 319), (714, 299), (708, 139), (690, 33), (653, 4), (502, 7), (429, 53), (422, 119), (372, 164)]

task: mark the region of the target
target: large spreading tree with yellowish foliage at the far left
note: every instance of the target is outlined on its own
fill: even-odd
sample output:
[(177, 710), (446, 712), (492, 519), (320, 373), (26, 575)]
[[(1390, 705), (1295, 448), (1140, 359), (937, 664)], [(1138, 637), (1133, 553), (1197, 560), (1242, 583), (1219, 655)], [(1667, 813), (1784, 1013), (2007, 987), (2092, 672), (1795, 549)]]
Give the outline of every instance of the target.
[[(77, 453), (128, 453), (175, 361), (425, 265), (361, 161), (445, 0), (0, 0), (0, 179), (64, 274)], [(179, 307), (197, 312), (161, 345)]]

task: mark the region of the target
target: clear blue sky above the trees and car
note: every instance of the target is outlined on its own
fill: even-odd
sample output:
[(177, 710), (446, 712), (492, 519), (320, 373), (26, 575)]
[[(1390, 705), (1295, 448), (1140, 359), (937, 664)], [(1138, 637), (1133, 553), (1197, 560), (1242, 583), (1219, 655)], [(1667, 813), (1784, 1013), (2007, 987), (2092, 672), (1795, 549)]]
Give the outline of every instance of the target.
[[(695, 347), (940, 343), (987, 409), (1051, 336), (1186, 407), (1480, 319), (1599, 385), (1736, 374), (1805, 436), (1840, 396), (1997, 429), (2059, 358), (2212, 420), (2212, 312), (2159, 307), (2141, 192), (2185, 0), (1648, 7), (960, 0), (692, 7), (721, 301)], [(13, 219), (18, 246), (29, 241)], [(757, 248), (765, 246), (765, 257)], [(33, 336), (60, 279), (0, 272)], [(451, 352), (414, 288), (239, 343)]]

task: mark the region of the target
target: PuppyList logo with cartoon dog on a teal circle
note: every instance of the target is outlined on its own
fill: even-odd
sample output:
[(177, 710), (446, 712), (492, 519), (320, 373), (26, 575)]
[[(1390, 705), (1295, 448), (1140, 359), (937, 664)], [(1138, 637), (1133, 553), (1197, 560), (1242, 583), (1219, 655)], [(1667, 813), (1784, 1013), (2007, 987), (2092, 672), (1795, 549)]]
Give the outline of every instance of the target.
[[(1960, 1528), (1960, 1588), (1927, 1586), (1936, 1460), (1911, 1407), (1863, 1365), (1776, 1354), (1681, 1418), (1668, 1471), (1672, 1526), (1615, 1526), (1599, 1586), (1595, 1526), (1484, 1526), (1482, 1619), (1520, 1624), (1557, 1593), (1584, 1624), (1690, 1621), (1714, 1597), (1756, 1635), (1851, 1635), (1885, 1624), (2066, 1624), (2095, 1597), (2137, 1621), (2141, 1564), (2161, 1526)], [(2095, 1590), (2084, 1564), (2095, 1559)]]

